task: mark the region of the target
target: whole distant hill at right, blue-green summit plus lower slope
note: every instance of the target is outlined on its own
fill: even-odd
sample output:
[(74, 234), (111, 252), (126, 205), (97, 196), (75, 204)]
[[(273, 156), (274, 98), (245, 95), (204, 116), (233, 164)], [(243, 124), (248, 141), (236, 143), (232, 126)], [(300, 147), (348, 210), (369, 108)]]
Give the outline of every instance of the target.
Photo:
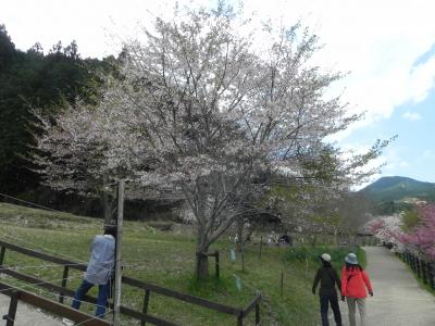
[(374, 203), (373, 213), (382, 215), (412, 208), (410, 199), (435, 202), (435, 184), (400, 176), (380, 178), (359, 192)]

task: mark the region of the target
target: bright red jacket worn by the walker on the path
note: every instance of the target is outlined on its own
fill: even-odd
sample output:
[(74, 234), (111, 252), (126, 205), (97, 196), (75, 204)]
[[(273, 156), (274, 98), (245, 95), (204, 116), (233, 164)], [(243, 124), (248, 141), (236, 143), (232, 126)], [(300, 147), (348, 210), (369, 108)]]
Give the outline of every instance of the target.
[(358, 267), (346, 269), (341, 268), (341, 296), (349, 298), (366, 298), (366, 290), (373, 292), (372, 285), (365, 271)]

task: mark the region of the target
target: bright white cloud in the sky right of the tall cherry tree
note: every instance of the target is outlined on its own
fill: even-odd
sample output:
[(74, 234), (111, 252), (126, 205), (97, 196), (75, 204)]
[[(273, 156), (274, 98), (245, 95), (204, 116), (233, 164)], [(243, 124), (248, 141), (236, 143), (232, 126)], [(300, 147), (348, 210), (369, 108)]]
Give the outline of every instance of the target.
[[(388, 118), (395, 108), (426, 98), (435, 84), (435, 57), (414, 66), (434, 45), (435, 2), (397, 1), (246, 1), (245, 8), (274, 21), (313, 26), (325, 43), (316, 60), (351, 72), (340, 83), (353, 112), (366, 111), (368, 125)], [(344, 133), (340, 138), (349, 134)]]

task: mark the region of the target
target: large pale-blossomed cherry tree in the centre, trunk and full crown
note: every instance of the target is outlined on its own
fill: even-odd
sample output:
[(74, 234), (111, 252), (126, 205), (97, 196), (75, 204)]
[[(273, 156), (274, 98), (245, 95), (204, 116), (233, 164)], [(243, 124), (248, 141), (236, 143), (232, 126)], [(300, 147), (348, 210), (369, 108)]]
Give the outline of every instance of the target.
[[(325, 173), (330, 184), (348, 187), (385, 146), (344, 159), (324, 141), (358, 116), (325, 96), (340, 74), (311, 62), (315, 36), (299, 25), (249, 28), (222, 7), (156, 18), (141, 39), (125, 43), (122, 78), (98, 108), (59, 116), (41, 140), (54, 158), (49, 183), (61, 183), (64, 172), (75, 183), (76, 166), (89, 161), (96, 184), (127, 177), (130, 196), (183, 198), (197, 224), (199, 277), (208, 275), (209, 247), (237, 217), (263, 210), (258, 203), (274, 183)], [(70, 133), (66, 121), (80, 126)], [(45, 147), (62, 137), (77, 139), (77, 148)], [(66, 151), (62, 164), (59, 151)]]

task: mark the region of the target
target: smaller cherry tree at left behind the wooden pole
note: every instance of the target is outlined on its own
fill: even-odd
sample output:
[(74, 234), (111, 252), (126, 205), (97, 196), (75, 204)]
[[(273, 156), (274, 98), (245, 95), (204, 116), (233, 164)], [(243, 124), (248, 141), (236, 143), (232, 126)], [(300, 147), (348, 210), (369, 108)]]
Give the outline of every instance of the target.
[(108, 143), (100, 133), (101, 116), (80, 103), (69, 108), (53, 121), (36, 113), (44, 134), (38, 139), (35, 162), (44, 184), (55, 190), (96, 196), (103, 208), (104, 221), (110, 223), (114, 210), (116, 168), (109, 166)]

